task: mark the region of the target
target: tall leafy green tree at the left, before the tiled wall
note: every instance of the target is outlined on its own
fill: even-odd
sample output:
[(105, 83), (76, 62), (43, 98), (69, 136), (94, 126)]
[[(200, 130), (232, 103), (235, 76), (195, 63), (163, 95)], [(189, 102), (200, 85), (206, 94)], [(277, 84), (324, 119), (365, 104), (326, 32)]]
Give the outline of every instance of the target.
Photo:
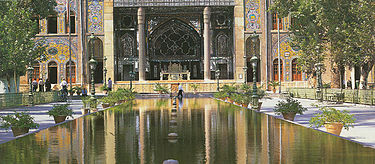
[(0, 77), (7, 79), (9, 91), (11, 78), (17, 86), (26, 66), (44, 54), (43, 45), (35, 43), (37, 21), (53, 13), (55, 5), (50, 0), (0, 1)]

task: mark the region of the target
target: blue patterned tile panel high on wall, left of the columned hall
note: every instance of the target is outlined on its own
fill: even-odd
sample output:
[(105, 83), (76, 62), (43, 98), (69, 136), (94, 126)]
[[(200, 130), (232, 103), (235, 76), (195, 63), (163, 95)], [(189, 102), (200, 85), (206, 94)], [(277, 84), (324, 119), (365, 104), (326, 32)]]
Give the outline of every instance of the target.
[(103, 32), (103, 0), (89, 0), (88, 2), (88, 32)]

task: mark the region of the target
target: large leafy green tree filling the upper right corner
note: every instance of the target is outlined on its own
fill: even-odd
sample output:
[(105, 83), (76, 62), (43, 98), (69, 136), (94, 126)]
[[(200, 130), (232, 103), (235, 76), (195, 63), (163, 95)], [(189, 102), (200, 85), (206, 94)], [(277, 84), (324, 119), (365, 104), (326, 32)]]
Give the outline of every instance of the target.
[(371, 0), (275, 0), (271, 10), (291, 15), (292, 41), (301, 47), (300, 62), (308, 74), (314, 73), (315, 63), (326, 60), (336, 87), (345, 65), (359, 64), (368, 75), (375, 61)]

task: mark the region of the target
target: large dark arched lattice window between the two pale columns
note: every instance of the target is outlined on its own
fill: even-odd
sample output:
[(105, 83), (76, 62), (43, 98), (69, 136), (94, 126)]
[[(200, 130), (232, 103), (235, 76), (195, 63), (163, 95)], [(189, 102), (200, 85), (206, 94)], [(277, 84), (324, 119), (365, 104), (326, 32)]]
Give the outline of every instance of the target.
[(147, 79), (160, 79), (161, 70), (177, 63), (189, 70), (191, 79), (201, 79), (201, 37), (188, 23), (170, 19), (151, 31), (148, 38), (149, 73)]

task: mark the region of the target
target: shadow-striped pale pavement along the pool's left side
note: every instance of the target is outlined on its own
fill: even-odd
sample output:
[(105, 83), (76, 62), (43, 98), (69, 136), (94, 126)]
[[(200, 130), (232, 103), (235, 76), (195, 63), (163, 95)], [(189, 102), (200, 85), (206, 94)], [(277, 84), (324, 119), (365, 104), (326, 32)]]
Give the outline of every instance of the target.
[[(30, 134), (30, 133), (34, 133), (34, 132), (56, 125), (55, 121), (53, 120), (53, 117), (52, 116), (50, 117), (47, 114), (47, 111), (52, 109), (54, 104), (65, 104), (65, 103), (66, 102), (56, 102), (56, 103), (50, 103), (50, 104), (35, 105), (32, 107), (18, 107), (18, 108), (4, 109), (4, 110), (0, 110), (0, 115), (14, 113), (13, 112), (14, 110), (19, 111), (19, 112), (28, 111), (34, 117), (35, 122), (40, 125), (39, 129), (30, 129), (28, 133)], [(81, 100), (71, 100), (70, 104), (71, 104), (70, 107), (73, 109), (74, 114), (73, 114), (73, 118), (68, 117), (67, 121), (83, 116), (81, 112), (81, 108), (83, 107)], [(98, 105), (98, 110), (99, 111), (103, 110), (101, 105)], [(18, 137), (22, 137), (22, 136), (23, 135), (18, 136)], [(4, 129), (0, 129), (0, 144), (4, 142), (8, 142), (13, 139), (16, 139), (16, 137), (13, 137), (12, 130), (9, 129), (7, 131)]]

